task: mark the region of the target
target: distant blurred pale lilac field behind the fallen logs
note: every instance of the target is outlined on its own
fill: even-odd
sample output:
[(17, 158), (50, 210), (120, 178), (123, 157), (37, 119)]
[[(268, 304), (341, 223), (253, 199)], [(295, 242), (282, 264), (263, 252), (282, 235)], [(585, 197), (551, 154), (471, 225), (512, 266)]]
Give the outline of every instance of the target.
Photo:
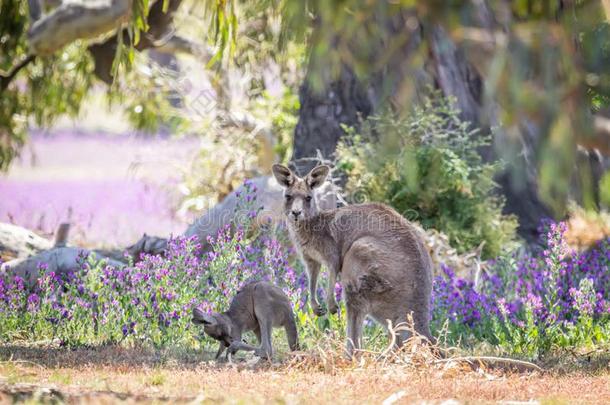
[(73, 243), (96, 246), (179, 234), (178, 174), (195, 150), (194, 140), (34, 134), (0, 177), (0, 222), (51, 235), (69, 221)]

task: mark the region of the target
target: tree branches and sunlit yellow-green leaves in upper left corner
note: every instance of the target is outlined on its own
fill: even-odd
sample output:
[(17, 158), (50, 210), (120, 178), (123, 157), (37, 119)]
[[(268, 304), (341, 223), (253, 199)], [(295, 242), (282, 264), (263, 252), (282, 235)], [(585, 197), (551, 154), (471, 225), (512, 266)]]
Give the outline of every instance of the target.
[[(48, 126), (63, 114), (75, 116), (96, 78), (115, 83), (138, 51), (192, 52), (193, 43), (175, 34), (173, 18), (181, 4), (182, 0), (2, 0), (0, 169), (7, 169), (23, 145), (30, 122)], [(229, 5), (211, 4), (209, 21), (225, 13), (224, 7)], [(111, 101), (121, 102), (118, 86), (112, 90)]]

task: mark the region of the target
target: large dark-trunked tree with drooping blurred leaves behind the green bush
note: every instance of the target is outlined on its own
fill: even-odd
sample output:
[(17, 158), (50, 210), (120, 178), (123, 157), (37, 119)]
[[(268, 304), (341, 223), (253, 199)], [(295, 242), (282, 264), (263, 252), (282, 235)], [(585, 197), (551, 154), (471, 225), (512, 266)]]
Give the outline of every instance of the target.
[(507, 162), (497, 181), (523, 236), (568, 197), (596, 205), (610, 154), (608, 2), (297, 3), (286, 2), (286, 21), (310, 31), (295, 159), (332, 154), (345, 126), (408, 111), (432, 87), (493, 132), (481, 153)]

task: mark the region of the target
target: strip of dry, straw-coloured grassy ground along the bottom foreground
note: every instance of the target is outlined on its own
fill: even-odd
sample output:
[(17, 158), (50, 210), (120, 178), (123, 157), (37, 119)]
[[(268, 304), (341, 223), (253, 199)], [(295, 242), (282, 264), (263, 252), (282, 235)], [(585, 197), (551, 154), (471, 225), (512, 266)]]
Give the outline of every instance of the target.
[(0, 403), (610, 403), (608, 368), (569, 373), (463, 366), (418, 370), (290, 360), (254, 365), (247, 359), (217, 365), (206, 357), (165, 357), (116, 347), (4, 346)]

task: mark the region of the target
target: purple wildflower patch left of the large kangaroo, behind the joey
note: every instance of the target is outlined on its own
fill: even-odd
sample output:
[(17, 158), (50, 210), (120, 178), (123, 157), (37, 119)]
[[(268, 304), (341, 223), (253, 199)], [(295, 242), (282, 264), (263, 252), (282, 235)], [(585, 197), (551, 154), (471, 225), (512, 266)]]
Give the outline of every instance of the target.
[(60, 338), (70, 344), (132, 341), (190, 345), (198, 335), (191, 310), (225, 310), (245, 283), (265, 279), (303, 303), (304, 275), (290, 266), (279, 230), (253, 230), (254, 186), (238, 207), (239, 221), (222, 228), (199, 257), (196, 237), (178, 237), (164, 256), (144, 255), (125, 268), (81, 257), (77, 272), (59, 277), (40, 266), (37, 284), (0, 279), (0, 340)]

